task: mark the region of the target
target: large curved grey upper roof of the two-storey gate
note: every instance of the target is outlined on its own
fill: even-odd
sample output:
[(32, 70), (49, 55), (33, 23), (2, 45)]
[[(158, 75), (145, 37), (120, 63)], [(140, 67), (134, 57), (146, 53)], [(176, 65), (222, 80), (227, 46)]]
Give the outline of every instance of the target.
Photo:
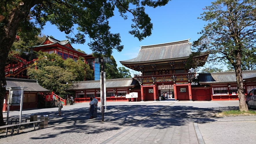
[(191, 54), (189, 39), (171, 43), (141, 46), (136, 58), (120, 61), (121, 64), (154, 62), (188, 58)]

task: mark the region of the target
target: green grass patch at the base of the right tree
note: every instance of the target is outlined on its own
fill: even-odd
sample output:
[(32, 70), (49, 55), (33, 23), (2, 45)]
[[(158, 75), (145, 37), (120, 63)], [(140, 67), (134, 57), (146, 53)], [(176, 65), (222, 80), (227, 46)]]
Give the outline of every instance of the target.
[(249, 110), (248, 112), (240, 110), (229, 110), (217, 113), (217, 117), (229, 117), (229, 116), (242, 116), (242, 115), (256, 115), (256, 111)]

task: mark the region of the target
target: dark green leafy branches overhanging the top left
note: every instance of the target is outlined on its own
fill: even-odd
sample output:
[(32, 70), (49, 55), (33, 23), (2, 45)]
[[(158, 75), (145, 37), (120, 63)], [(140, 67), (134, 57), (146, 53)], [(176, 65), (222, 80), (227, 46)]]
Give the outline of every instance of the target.
[[(29, 0), (28, 0), (29, 1)], [(24, 1), (28, 3), (28, 1)], [(67, 34), (71, 43), (85, 43), (86, 36), (90, 38), (88, 45), (93, 53), (110, 56), (112, 49), (121, 51), (120, 34), (110, 32), (108, 19), (114, 16), (115, 8), (118, 9), (120, 16), (125, 20), (128, 13), (132, 16), (130, 34), (137, 37), (140, 41), (150, 36), (153, 24), (145, 7), (156, 8), (163, 6), (170, 0), (158, 1), (57, 1), (57, 0), (34, 0), (30, 14), (19, 25), (20, 35), (31, 38), (39, 34), (47, 21), (57, 26), (61, 32)], [(8, 11), (17, 7), (20, 1), (1, 2), (3, 9), (1, 12), (8, 15)], [(33, 19), (33, 21), (32, 21)], [(76, 30), (74, 30), (76, 28)], [(76, 32), (76, 33), (75, 33)], [(29, 39), (26, 39), (26, 41)]]

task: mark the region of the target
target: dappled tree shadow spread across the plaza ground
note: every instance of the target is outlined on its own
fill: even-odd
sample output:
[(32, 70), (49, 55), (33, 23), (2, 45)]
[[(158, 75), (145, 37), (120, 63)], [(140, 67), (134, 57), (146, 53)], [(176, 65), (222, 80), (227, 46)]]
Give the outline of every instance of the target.
[[(76, 132), (83, 134), (100, 134), (102, 132), (119, 130), (122, 126), (154, 127), (158, 129), (187, 125), (187, 123), (206, 123), (216, 121), (214, 113), (224, 110), (239, 109), (236, 106), (197, 108), (192, 106), (162, 106), (162, 105), (119, 105), (108, 106), (104, 113), (99, 112), (96, 119), (89, 119), (89, 108), (63, 110), (62, 116), (58, 112), (39, 112), (40, 116), (48, 115), (48, 127), (54, 127), (55, 133), (42, 134), (31, 139), (47, 139), (58, 134)], [(31, 114), (23, 115), (29, 118)], [(95, 130), (97, 125), (97, 130)], [(40, 130), (40, 129), (39, 129)], [(59, 131), (58, 131), (59, 130)], [(1, 138), (1, 137), (0, 137)]]

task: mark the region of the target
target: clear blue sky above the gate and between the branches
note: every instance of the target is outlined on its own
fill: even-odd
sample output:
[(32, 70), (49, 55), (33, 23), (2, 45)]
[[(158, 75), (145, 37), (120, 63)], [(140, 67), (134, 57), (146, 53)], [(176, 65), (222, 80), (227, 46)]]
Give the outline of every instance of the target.
[[(128, 33), (131, 30), (131, 19), (129, 16), (127, 20), (124, 20), (119, 16), (118, 12), (115, 12), (110, 20), (110, 27), (112, 33), (120, 33), (121, 45), (124, 45), (124, 49), (121, 52), (113, 51), (113, 56), (117, 61), (117, 67), (122, 67), (119, 61), (129, 60), (137, 57), (140, 46), (153, 45), (160, 43), (169, 43), (179, 40), (185, 40), (191, 38), (189, 41), (193, 42), (197, 40), (200, 35), (197, 34), (203, 29), (207, 22), (197, 19), (205, 6), (211, 5), (213, 0), (172, 0), (167, 5), (158, 8), (146, 8), (146, 13), (149, 14), (151, 22), (153, 23), (152, 35), (139, 41), (134, 36)], [(47, 23), (42, 32), (45, 35), (51, 35), (58, 40), (66, 40), (64, 32), (60, 32), (55, 25)], [(86, 39), (86, 43), (72, 44), (75, 49), (81, 49), (86, 53), (92, 53), (87, 43), (89, 38)], [(207, 64), (208, 65), (208, 64)], [(224, 65), (220, 65), (224, 66)], [(133, 76), (133, 73), (130, 70)], [(138, 72), (137, 72), (138, 73)]]

